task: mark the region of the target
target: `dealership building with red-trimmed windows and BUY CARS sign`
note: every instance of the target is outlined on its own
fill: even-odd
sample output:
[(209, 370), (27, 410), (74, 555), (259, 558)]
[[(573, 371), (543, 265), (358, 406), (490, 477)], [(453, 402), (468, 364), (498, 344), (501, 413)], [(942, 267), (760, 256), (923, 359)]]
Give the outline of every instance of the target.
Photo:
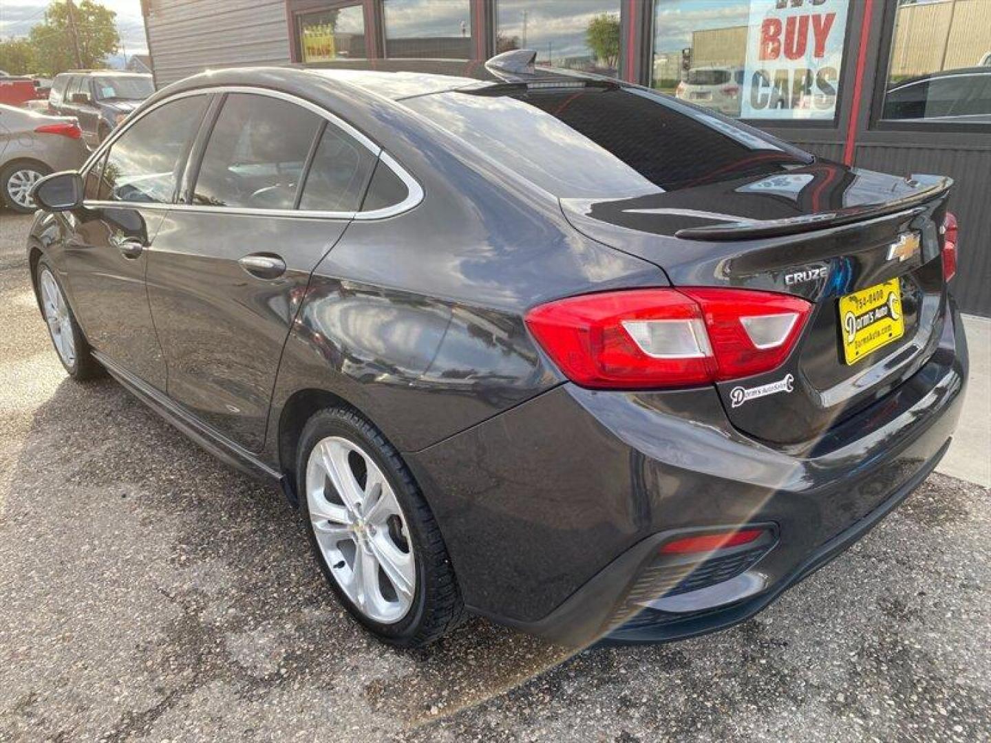
[(954, 292), (991, 315), (991, 0), (143, 0), (159, 86), (203, 69), (458, 58), (649, 85), (821, 157), (951, 176)]

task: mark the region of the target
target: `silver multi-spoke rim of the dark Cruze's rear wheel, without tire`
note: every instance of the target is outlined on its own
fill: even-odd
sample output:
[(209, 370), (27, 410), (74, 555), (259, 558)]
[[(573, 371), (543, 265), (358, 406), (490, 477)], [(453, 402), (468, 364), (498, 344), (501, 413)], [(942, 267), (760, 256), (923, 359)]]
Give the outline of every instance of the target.
[(405, 516), (372, 457), (347, 439), (322, 439), (306, 464), (306, 503), (341, 590), (374, 621), (402, 619), (416, 592), (416, 561)]

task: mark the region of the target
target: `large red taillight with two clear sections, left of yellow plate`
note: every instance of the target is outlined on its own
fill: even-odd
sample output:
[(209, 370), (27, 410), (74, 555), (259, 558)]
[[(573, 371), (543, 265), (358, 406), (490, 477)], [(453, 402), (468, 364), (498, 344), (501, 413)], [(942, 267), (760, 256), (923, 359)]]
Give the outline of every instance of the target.
[(530, 310), (530, 332), (572, 381), (665, 388), (771, 371), (788, 358), (812, 304), (751, 289), (629, 289)]

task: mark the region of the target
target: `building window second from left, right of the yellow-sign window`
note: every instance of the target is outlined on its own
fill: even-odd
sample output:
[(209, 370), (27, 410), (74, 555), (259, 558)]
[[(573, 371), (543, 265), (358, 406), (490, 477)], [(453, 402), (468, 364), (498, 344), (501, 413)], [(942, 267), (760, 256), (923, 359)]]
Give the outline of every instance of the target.
[(384, 0), (385, 56), (469, 59), (469, 0)]

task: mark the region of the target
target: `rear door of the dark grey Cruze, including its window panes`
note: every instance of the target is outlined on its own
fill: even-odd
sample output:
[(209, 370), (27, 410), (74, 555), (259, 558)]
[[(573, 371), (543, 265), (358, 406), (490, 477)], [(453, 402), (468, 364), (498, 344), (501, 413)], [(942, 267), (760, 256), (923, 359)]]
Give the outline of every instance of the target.
[(358, 209), (378, 148), (272, 91), (224, 92), (215, 109), (150, 251), (149, 301), (169, 397), (257, 452), (310, 273)]

